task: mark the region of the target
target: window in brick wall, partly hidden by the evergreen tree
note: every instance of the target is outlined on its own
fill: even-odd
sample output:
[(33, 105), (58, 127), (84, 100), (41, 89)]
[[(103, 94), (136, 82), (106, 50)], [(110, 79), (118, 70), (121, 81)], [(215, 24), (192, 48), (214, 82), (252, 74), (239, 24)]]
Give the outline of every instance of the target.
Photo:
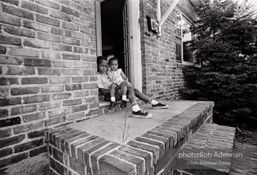
[(175, 35), (176, 35), (176, 60), (177, 62), (193, 63), (193, 53), (189, 51), (188, 41), (192, 40), (190, 23), (182, 17), (182, 13), (174, 9)]

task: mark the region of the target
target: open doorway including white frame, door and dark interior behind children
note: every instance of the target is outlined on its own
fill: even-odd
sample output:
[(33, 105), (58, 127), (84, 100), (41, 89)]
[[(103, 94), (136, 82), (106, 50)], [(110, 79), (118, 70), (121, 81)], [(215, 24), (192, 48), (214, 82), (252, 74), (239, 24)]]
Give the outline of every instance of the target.
[(133, 87), (141, 91), (139, 1), (96, 0), (97, 56), (117, 57)]

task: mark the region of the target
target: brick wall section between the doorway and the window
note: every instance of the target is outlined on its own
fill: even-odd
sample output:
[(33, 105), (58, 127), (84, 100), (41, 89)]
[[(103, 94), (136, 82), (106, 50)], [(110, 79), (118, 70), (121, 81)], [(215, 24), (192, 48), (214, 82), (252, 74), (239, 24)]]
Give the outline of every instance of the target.
[[(161, 16), (170, 7), (170, 0), (161, 1)], [(181, 0), (176, 6), (191, 20), (195, 19), (189, 0)], [(148, 31), (146, 16), (157, 18), (157, 4), (154, 0), (140, 1), (142, 90), (156, 99), (183, 98), (180, 89), (187, 85), (182, 74), (185, 65), (176, 62), (176, 38), (174, 14), (162, 26), (162, 36)], [(149, 36), (150, 34), (150, 36)]]

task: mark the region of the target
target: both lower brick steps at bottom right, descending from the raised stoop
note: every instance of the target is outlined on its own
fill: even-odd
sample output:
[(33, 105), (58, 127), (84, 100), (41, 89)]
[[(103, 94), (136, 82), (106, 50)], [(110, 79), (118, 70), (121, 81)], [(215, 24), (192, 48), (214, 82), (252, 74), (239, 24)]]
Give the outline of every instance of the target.
[[(233, 127), (205, 123), (196, 133), (193, 134), (193, 137), (189, 139), (187, 144), (185, 144), (179, 152), (182, 153), (185, 151), (187, 153), (200, 153), (209, 151), (212, 153), (211, 157), (208, 156), (206, 158), (198, 158), (196, 160), (186, 158), (185, 161), (178, 161), (178, 159), (176, 159), (170, 163), (170, 167), (166, 167), (165, 170), (163, 172), (159, 172), (159, 174), (257, 174), (257, 146), (234, 142), (234, 137), (235, 128)], [(223, 156), (215, 157), (215, 154), (222, 155), (220, 153), (222, 153)], [(234, 156), (229, 157), (229, 153), (234, 154)], [(178, 161), (176, 162), (177, 164), (174, 164), (174, 161)], [(187, 164), (190, 162), (193, 162), (192, 164), (194, 165)], [(195, 163), (199, 162), (206, 162), (206, 165), (195, 165)], [(217, 165), (215, 163), (217, 163)], [(175, 170), (174, 168), (178, 168), (177, 165), (180, 165), (180, 167), (183, 167), (184, 169), (180, 168), (180, 170)]]

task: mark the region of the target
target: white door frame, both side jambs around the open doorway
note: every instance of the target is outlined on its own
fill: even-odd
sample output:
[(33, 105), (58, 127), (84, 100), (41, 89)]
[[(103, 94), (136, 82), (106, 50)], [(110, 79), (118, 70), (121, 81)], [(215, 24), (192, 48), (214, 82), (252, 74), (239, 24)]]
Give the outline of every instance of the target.
[[(102, 55), (102, 33), (100, 23), (100, 3), (105, 0), (96, 0), (96, 55)], [(131, 30), (131, 83), (134, 88), (142, 90), (142, 70), (141, 70), (141, 43), (139, 25), (139, 1), (128, 0)]]

